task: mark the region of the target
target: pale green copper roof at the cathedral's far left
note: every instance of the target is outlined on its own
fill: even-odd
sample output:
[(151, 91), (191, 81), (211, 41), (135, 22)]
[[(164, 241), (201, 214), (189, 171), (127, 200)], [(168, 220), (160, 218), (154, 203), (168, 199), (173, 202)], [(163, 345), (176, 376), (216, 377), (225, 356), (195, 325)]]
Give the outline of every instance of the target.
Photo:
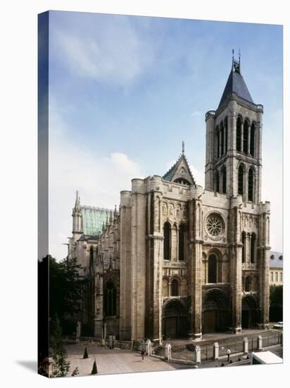
[(99, 236), (102, 231), (103, 223), (106, 224), (110, 217), (111, 209), (102, 207), (82, 206), (82, 226), (85, 239), (92, 240), (92, 236)]

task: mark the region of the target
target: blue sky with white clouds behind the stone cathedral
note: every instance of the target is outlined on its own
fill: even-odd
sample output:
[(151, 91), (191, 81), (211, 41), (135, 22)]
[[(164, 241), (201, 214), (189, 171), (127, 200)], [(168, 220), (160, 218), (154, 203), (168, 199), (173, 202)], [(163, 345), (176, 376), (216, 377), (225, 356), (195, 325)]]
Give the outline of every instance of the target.
[(232, 48), (264, 105), (262, 199), (282, 250), (281, 26), (61, 11), (49, 20), (52, 255), (66, 254), (75, 190), (82, 204), (113, 207), (131, 178), (163, 175), (182, 140), (204, 186), (204, 117), (220, 102)]

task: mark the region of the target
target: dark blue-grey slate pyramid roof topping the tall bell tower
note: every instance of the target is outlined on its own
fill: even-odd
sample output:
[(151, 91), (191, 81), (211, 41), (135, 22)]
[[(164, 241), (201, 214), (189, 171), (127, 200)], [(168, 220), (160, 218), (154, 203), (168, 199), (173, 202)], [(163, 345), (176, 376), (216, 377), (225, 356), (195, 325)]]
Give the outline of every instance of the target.
[(250, 92), (248, 91), (248, 87), (244, 81), (243, 75), (241, 75), (239, 71), (236, 71), (234, 68), (232, 68), (232, 71), (229, 73), (227, 85), (225, 85), (225, 90), (222, 93), (222, 98), (220, 99), (220, 104), (218, 105), (217, 110), (227, 102), (227, 98), (230, 97), (233, 92), (237, 93), (237, 95), (242, 99), (246, 99), (246, 101), (254, 104)]

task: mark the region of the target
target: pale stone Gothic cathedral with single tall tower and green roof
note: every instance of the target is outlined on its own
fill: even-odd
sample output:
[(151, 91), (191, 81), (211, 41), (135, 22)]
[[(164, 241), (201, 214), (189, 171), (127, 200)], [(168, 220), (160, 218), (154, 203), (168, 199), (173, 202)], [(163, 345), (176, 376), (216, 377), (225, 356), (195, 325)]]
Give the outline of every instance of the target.
[(133, 178), (117, 210), (77, 193), (68, 260), (82, 265), (80, 320), (124, 341), (201, 339), (267, 328), (270, 202), (261, 202), (263, 105), (232, 58), (206, 113), (205, 188), (182, 153), (163, 176)]

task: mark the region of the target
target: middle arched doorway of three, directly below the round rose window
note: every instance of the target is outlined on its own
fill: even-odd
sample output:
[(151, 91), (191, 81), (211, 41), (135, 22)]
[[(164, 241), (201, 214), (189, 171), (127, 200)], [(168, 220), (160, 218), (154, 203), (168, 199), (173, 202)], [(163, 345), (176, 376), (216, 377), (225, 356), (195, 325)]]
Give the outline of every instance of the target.
[(211, 289), (203, 297), (202, 332), (225, 332), (229, 327), (229, 301), (219, 289)]

